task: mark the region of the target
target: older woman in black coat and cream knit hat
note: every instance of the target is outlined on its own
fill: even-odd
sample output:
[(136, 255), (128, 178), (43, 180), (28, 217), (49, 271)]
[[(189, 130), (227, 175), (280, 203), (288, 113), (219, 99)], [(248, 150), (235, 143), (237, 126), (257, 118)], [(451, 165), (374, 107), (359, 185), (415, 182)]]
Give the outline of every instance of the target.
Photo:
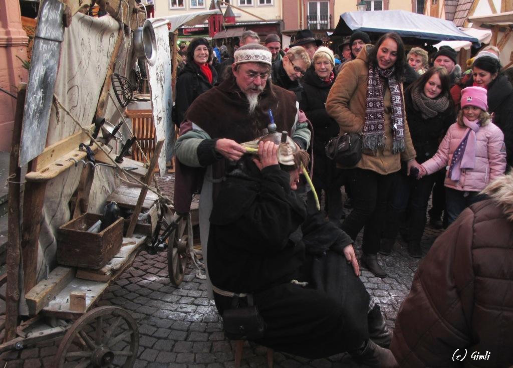
[[(324, 147), (332, 137), (339, 135), (339, 125), (326, 112), (326, 99), (335, 80), (333, 52), (320, 47), (314, 54), (310, 68), (303, 78), (303, 91), (299, 107), (313, 126), (313, 185), (325, 193), (325, 209), (328, 218), (339, 224), (342, 217), (342, 194), (340, 173), (334, 161), (326, 157)], [(308, 205), (313, 208), (312, 192), (308, 193)]]

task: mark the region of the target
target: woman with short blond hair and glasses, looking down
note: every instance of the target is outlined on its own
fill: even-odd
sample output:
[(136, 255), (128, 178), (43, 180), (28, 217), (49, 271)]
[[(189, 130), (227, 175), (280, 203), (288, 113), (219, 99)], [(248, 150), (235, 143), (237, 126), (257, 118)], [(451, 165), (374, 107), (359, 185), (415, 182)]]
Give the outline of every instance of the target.
[(301, 101), (303, 86), (299, 82), (310, 66), (310, 56), (301, 46), (295, 46), (287, 51), (281, 61), (272, 65), (272, 83), (295, 93)]

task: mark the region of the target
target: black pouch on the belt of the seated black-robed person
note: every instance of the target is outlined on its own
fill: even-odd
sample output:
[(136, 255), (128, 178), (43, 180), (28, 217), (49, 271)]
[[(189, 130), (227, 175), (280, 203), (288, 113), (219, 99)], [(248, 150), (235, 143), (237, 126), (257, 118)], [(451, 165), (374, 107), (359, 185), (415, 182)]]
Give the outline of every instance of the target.
[(257, 340), (264, 336), (266, 324), (253, 305), (253, 296), (248, 294), (248, 305), (239, 305), (239, 296), (233, 297), (232, 308), (223, 312), (225, 335), (230, 340)]

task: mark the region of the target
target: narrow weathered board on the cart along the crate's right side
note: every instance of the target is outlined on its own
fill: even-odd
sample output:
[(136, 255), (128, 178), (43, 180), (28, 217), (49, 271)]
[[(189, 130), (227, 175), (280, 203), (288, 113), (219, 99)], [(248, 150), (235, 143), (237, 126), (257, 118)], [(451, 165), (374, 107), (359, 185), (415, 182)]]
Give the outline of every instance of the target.
[(123, 238), (120, 251), (101, 269), (79, 268), (76, 277), (91, 281), (109, 281), (111, 276), (121, 269), (130, 259), (130, 256), (146, 241), (146, 236), (135, 234), (132, 238)]

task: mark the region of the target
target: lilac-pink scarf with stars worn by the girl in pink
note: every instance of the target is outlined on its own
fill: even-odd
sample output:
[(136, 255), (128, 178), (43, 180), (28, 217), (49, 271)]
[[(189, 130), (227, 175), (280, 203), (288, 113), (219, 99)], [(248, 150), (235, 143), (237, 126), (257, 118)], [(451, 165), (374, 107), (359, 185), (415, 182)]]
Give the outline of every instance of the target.
[(476, 165), (476, 132), (481, 127), (479, 120), (473, 122), (463, 117), (463, 124), (468, 128), (465, 137), (461, 140), (452, 154), (449, 166), (449, 178), (453, 181), (459, 181), (462, 169), (473, 169)]

